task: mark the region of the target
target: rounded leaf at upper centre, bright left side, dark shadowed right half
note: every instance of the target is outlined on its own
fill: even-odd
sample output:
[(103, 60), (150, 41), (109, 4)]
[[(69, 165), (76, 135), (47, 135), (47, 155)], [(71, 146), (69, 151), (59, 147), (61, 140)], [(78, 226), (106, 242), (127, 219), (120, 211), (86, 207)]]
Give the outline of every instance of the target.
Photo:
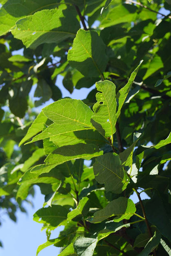
[(95, 31), (80, 29), (68, 51), (68, 61), (85, 77), (99, 77), (108, 62), (105, 51), (106, 45)]

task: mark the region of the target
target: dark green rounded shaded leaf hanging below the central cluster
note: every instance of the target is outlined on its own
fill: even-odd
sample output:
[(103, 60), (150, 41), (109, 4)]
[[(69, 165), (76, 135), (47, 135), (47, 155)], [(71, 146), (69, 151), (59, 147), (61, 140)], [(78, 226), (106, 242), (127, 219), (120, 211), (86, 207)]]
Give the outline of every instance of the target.
[(106, 153), (103, 156), (98, 156), (93, 170), (95, 179), (100, 184), (104, 184), (107, 192), (120, 194), (126, 189), (129, 178), (117, 154)]

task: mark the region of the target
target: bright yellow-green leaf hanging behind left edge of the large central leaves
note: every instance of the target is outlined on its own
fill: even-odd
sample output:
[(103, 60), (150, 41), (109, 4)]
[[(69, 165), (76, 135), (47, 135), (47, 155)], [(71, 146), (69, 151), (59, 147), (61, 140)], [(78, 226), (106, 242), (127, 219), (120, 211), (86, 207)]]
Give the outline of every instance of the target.
[(18, 146), (20, 147), (21, 144), (23, 144), (24, 142), (29, 140), (31, 137), (33, 137), (34, 135), (39, 133), (41, 130), (43, 130), (44, 123), (46, 123), (46, 121), (47, 121), (47, 117), (44, 115), (43, 112), (40, 112), (40, 114), (38, 114), (35, 121), (32, 123), (32, 125), (28, 129), (27, 134), (25, 135), (25, 137), (23, 137), (23, 139), (21, 140)]

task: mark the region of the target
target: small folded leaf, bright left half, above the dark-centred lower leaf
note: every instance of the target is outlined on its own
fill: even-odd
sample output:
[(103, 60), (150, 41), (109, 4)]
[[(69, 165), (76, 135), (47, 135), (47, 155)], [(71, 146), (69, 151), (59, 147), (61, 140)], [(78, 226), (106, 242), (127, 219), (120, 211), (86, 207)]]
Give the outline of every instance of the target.
[(76, 209), (72, 210), (68, 213), (67, 221), (80, 221), (82, 218), (86, 216), (89, 210), (89, 203), (88, 198), (83, 197), (79, 201), (79, 205), (76, 207)]

